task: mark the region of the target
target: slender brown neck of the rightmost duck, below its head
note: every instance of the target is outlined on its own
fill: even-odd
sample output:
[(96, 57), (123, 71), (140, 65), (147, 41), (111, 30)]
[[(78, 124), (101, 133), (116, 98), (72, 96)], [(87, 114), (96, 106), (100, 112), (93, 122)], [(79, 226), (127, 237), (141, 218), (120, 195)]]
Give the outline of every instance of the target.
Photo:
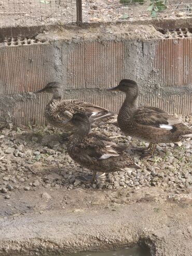
[(122, 104), (118, 114), (118, 122), (120, 122), (120, 120), (129, 119), (132, 116), (132, 114), (136, 111), (137, 109), (136, 98), (137, 96), (132, 97), (126, 93), (125, 101)]

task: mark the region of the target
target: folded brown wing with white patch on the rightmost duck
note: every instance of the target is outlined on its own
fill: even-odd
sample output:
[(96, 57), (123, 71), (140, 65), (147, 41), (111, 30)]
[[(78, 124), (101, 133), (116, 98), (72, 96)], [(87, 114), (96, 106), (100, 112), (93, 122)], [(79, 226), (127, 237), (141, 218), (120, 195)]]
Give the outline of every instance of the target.
[(181, 123), (179, 119), (156, 107), (140, 107), (134, 113), (133, 119), (134, 122), (140, 125), (153, 126), (167, 130), (171, 130), (173, 129), (173, 125)]

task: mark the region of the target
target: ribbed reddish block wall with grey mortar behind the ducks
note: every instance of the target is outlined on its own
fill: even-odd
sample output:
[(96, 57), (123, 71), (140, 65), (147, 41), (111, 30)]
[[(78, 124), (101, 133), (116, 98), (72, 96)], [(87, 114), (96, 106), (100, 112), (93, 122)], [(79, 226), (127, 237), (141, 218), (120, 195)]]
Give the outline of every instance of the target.
[(2, 120), (43, 125), (50, 96), (25, 92), (54, 80), (62, 83), (64, 99), (90, 101), (118, 111), (124, 95), (108, 93), (105, 88), (130, 78), (139, 84), (139, 104), (192, 114), (192, 38), (166, 39), (159, 33), (154, 38), (118, 34), (116, 39), (101, 40), (99, 36), (78, 39), (72, 33), (66, 39), (63, 33), (66, 31), (62, 36), (60, 31), (41, 34), (37, 42), (15, 39), (0, 44)]

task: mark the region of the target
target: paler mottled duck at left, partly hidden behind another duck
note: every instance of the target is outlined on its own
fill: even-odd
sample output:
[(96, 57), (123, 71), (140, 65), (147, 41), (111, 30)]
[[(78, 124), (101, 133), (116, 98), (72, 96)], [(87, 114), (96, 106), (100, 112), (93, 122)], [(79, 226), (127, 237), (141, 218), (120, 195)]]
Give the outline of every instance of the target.
[[(71, 131), (71, 126), (64, 121), (70, 120), (73, 114), (76, 112), (88, 113), (92, 124), (95, 121), (108, 118), (115, 114), (112, 111), (104, 109), (104, 107), (94, 105), (89, 102), (79, 100), (63, 100), (62, 87), (59, 82), (50, 82), (43, 89), (40, 89), (34, 93), (52, 94), (52, 99), (47, 104), (45, 109), (45, 117), (47, 122), (53, 127), (57, 127), (68, 132)], [(66, 125), (64, 125), (63, 122), (66, 123)]]

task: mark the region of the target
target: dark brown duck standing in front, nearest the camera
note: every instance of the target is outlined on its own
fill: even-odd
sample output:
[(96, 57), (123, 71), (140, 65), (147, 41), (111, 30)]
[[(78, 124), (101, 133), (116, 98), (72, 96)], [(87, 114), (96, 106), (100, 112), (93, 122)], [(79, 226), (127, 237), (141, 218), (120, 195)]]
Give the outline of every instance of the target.
[(90, 119), (86, 113), (75, 113), (69, 122), (76, 129), (68, 141), (67, 153), (80, 166), (93, 172), (91, 179), (82, 177), (80, 181), (93, 183), (97, 171), (106, 173), (140, 169), (125, 153), (127, 146), (117, 145), (111, 138), (91, 132)]

